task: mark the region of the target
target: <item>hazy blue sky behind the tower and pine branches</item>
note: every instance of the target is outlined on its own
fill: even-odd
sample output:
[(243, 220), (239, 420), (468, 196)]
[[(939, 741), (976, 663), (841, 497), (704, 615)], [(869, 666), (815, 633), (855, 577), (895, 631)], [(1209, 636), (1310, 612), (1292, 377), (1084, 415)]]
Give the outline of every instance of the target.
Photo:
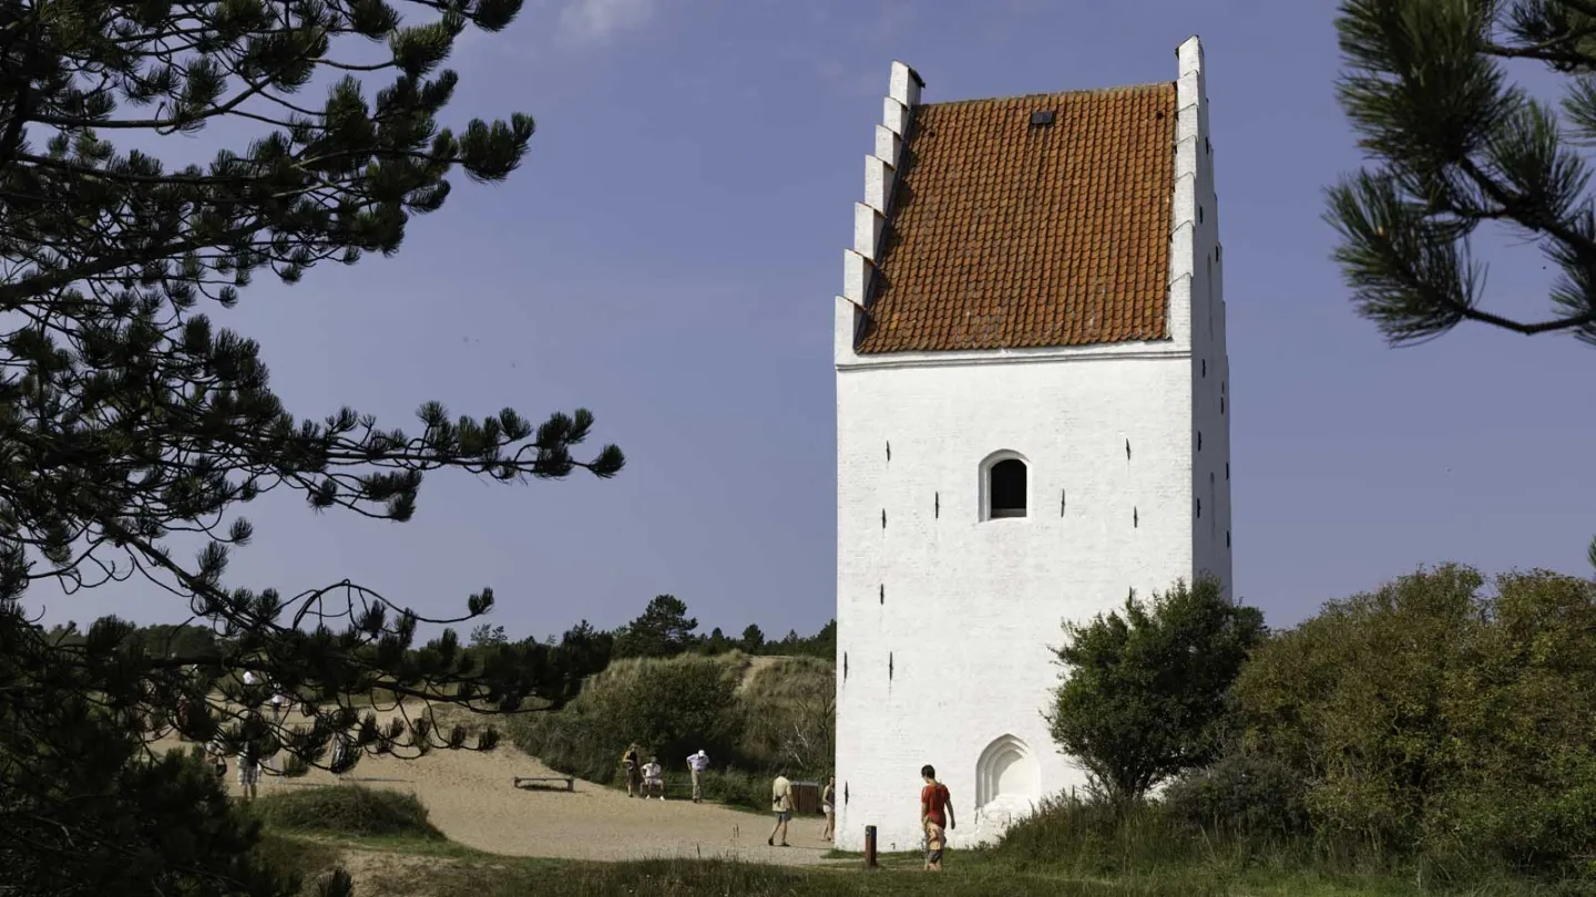
[[(461, 121), (538, 120), (523, 168), (461, 179), (394, 259), (262, 281), (215, 316), (260, 340), (302, 415), (586, 405), (626, 472), (433, 476), (404, 525), (273, 496), (251, 508), (233, 584), (353, 578), (431, 613), (493, 586), (512, 635), (616, 626), (659, 592), (705, 630), (814, 630), (835, 602), (833, 295), (891, 61), (935, 102), (1173, 80), (1192, 34), (1226, 246), (1238, 595), (1283, 626), (1419, 563), (1585, 573), (1596, 350), (1478, 327), (1389, 350), (1328, 260), (1321, 190), (1358, 164), (1333, 10), (528, 2), (452, 59)], [(1494, 305), (1545, 311), (1539, 254), (1494, 260)], [(80, 622), (182, 613), (131, 587), (48, 605)]]

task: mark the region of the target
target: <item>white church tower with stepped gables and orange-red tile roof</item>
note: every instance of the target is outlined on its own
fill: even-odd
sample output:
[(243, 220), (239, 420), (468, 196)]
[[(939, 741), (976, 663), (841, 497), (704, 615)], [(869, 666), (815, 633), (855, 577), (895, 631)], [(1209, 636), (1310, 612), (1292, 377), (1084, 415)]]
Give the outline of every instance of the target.
[(1197, 38), (1178, 78), (921, 102), (892, 64), (836, 300), (836, 846), (953, 846), (1085, 779), (1063, 621), (1231, 591), (1229, 361)]

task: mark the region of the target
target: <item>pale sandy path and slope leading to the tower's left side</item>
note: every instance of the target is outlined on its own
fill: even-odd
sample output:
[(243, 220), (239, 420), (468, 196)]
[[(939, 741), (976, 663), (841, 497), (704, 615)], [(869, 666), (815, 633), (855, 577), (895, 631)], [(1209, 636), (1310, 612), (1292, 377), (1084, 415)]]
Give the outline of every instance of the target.
[[(290, 720), (292, 721), (292, 720)], [(236, 765), (228, 787), (238, 793)], [(493, 854), (632, 860), (651, 857), (729, 857), (749, 862), (820, 863), (830, 848), (824, 819), (798, 817), (792, 848), (769, 848), (774, 819), (688, 800), (635, 800), (626, 792), (576, 782), (575, 792), (516, 788), (516, 776), (554, 776), (511, 744), (488, 753), (436, 750), (417, 760), (364, 757), (345, 782), (412, 792), (450, 840)], [(260, 777), (260, 793), (330, 785), (311, 769), (303, 779)], [(563, 788), (563, 782), (557, 784)]]

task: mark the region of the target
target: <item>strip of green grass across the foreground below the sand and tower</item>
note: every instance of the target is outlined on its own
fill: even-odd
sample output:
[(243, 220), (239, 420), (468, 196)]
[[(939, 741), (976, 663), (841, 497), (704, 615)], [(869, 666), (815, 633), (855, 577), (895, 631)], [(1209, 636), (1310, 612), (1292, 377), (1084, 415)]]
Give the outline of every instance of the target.
[(721, 859), (575, 862), (506, 857), (444, 838), (413, 796), (332, 785), (270, 795), (254, 806), (262, 851), (298, 870), (308, 894), (340, 859), (361, 871), (358, 897), (1553, 897), (1586, 894), (1510, 876), (1448, 884), (1381, 863), (1336, 863), (1290, 849), (1179, 843), (1152, 820), (1103, 827), (1090, 808), (1061, 808), (1017, 827), (1012, 843), (953, 851), (924, 873), (918, 854), (830, 852), (820, 867)]

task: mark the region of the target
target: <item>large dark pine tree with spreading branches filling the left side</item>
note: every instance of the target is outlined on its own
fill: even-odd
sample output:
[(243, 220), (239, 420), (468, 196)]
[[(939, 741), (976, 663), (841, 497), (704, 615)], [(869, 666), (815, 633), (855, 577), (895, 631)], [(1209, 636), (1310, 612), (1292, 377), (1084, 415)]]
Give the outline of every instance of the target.
[[(89, 894), (267, 892), (265, 879), (223, 883), (231, 873), (217, 863), (233, 862), (249, 835), (217, 822), (211, 792), (179, 800), (200, 787), (179, 766), (140, 765), (153, 739), (220, 736), (235, 750), (286, 753), (289, 768), (330, 765), (340, 731), (367, 752), (466, 747), (463, 729), (380, 728), (356, 704), (381, 690), (488, 712), (559, 707), (587, 664), (608, 656), (592, 643), (468, 656), (452, 630), (417, 646), (423, 622), (487, 613), (490, 591), (460, 618), (428, 621), (353, 583), (298, 594), (225, 584), (230, 551), (252, 536), (239, 511), (267, 492), (404, 522), (429, 471), (523, 482), (621, 469), (613, 445), (576, 456), (592, 433), (586, 410), (533, 425), (509, 409), (471, 418), (428, 402), (415, 431), (348, 407), (297, 418), (271, 391), (259, 346), (207, 314), (239, 302), (257, 276), (295, 283), (321, 262), (393, 254), (413, 215), (444, 204), (456, 174), (509, 176), (530, 117), (458, 131), (439, 118), (458, 81), (442, 69), (455, 40), (468, 27), (500, 30), (519, 8), (0, 2), (8, 884), (11, 870), (34, 868), (56, 876), (54, 892), (73, 892), (70, 883), (89, 883), (78, 889)], [(155, 155), (164, 136), (184, 136), (188, 153), (212, 128), (230, 145), (212, 144), (209, 161)], [(19, 610), (40, 584), (75, 592), (131, 578), (172, 594), (185, 624), (220, 638), (156, 643), (104, 622), (53, 640)], [(262, 683), (241, 686), (243, 672)], [(311, 721), (265, 720), (268, 688), (313, 710)], [(493, 741), (485, 729), (476, 747)], [(209, 865), (195, 875), (209, 884), (160, 884), (201, 854)], [(117, 868), (121, 881), (96, 878)]]

